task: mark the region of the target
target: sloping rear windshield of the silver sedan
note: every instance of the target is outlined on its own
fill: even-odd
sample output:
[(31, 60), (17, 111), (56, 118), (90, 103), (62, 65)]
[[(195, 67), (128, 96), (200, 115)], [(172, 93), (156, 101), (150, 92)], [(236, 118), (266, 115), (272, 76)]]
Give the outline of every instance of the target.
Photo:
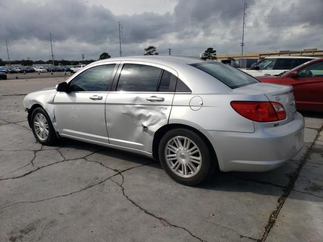
[(259, 82), (257, 79), (245, 74), (242, 71), (218, 62), (202, 62), (191, 64), (190, 66), (211, 75), (231, 89)]

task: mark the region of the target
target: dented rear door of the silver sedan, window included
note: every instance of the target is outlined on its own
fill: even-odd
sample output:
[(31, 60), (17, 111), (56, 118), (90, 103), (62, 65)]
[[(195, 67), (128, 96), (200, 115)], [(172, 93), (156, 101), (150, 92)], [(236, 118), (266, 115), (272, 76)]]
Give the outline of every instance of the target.
[(120, 67), (106, 99), (110, 144), (152, 152), (154, 133), (168, 124), (177, 80), (174, 70), (157, 66)]

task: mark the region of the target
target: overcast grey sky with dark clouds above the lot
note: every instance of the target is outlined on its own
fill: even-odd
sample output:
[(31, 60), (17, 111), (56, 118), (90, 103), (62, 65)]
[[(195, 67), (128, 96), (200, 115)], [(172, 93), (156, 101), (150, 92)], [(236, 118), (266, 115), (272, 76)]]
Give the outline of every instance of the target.
[[(240, 52), (244, 0), (0, 0), (0, 58)], [(245, 52), (323, 49), (323, 0), (246, 0)]]

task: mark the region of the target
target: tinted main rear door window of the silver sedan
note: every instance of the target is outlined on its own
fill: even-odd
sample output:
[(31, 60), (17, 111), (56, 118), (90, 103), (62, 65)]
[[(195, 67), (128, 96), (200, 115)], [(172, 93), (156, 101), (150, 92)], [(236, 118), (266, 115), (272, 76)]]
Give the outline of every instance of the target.
[(156, 92), (162, 71), (162, 69), (152, 66), (124, 64), (117, 91)]

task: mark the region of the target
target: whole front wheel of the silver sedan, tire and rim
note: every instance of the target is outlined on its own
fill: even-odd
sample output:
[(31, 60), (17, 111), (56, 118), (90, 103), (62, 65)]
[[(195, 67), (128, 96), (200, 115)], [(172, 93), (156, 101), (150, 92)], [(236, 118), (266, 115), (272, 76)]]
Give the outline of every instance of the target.
[(53, 145), (58, 141), (50, 118), (42, 107), (36, 107), (33, 110), (31, 114), (31, 129), (36, 140), (42, 145)]

